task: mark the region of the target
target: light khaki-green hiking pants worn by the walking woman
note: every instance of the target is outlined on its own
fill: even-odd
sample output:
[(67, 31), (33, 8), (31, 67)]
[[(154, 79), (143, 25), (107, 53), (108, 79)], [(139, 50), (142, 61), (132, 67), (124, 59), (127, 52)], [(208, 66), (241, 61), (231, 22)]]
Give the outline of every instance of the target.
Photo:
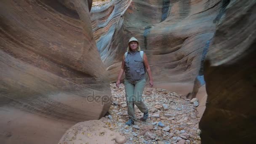
[(134, 104), (139, 108), (141, 112), (148, 112), (147, 106), (142, 101), (142, 93), (144, 91), (145, 84), (145, 78), (139, 81), (124, 81), (128, 115), (129, 118), (133, 121), (136, 121)]

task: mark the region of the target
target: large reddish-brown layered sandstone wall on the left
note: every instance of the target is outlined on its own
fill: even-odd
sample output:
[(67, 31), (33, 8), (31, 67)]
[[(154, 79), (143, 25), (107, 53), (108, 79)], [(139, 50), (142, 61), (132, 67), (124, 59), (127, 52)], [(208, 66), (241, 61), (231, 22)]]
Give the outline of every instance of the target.
[(0, 1), (2, 144), (56, 144), (70, 126), (109, 109), (88, 2)]

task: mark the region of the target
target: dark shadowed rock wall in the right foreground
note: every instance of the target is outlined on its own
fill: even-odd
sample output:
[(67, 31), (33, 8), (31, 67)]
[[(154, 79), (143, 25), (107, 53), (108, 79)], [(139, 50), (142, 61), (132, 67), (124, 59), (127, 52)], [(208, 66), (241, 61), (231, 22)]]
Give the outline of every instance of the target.
[(256, 1), (230, 0), (205, 61), (202, 144), (254, 144)]

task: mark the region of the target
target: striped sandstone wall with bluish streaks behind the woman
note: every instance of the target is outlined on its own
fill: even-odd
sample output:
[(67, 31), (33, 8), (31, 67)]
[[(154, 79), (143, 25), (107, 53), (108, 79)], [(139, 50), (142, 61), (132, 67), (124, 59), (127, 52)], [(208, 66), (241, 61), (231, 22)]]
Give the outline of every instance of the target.
[(130, 37), (149, 58), (155, 86), (192, 92), (221, 0), (112, 0), (92, 8), (93, 34), (112, 82)]

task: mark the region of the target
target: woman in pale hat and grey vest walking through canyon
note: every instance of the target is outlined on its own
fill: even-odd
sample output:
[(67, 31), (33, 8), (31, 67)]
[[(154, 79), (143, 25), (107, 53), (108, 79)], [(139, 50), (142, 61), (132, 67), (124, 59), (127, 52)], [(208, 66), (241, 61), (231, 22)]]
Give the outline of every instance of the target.
[(129, 120), (126, 125), (133, 125), (136, 121), (134, 104), (144, 113), (143, 120), (148, 118), (148, 108), (142, 101), (146, 79), (145, 70), (149, 75), (149, 86), (153, 87), (153, 79), (147, 56), (139, 47), (139, 42), (135, 37), (129, 40), (127, 52), (123, 56), (122, 66), (117, 78), (116, 86), (119, 88), (120, 78), (125, 72), (125, 96), (128, 105)]

